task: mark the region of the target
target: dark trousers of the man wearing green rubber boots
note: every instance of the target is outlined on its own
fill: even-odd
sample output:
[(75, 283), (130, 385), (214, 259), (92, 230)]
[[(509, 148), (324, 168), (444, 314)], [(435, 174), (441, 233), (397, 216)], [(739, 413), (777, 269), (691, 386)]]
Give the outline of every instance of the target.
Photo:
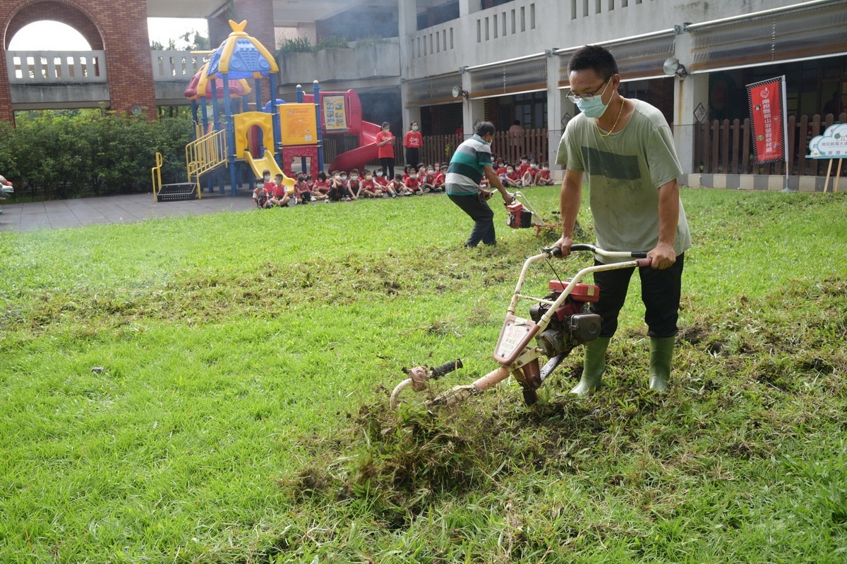
[[(673, 266), (654, 270), (639, 268), (641, 301), (645, 305), (644, 320), (650, 337), (673, 337), (677, 334), (679, 295), (682, 291), (685, 254), (679, 255)], [(595, 266), (601, 263), (595, 260)], [(601, 316), (601, 337), (612, 337), (617, 331), (617, 314), (627, 298), (629, 278), (634, 268), (594, 273), (594, 283), (600, 287), (600, 301), (591, 304), (590, 311)]]

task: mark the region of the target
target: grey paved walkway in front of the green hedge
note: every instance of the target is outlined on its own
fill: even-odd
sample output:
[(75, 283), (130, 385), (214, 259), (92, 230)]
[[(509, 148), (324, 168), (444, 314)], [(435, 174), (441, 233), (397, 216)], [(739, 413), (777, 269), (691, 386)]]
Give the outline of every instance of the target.
[[(12, 202), (12, 203), (6, 203)], [(15, 204), (14, 197), (0, 202), (0, 231), (32, 231), (59, 227), (82, 227), (92, 223), (134, 223), (151, 217), (189, 216), (219, 211), (255, 210), (250, 191), (237, 196), (202, 194), (202, 200), (157, 202), (152, 194), (129, 194), (77, 200), (51, 200)]]

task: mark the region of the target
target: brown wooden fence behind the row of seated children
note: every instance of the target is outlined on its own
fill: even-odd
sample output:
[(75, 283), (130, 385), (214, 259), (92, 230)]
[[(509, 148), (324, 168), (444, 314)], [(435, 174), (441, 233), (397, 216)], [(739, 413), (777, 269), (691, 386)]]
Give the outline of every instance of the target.
[[(450, 162), (456, 147), (467, 139), (463, 135), (427, 135), (424, 146), (421, 147), (421, 162), (428, 165), (437, 162)], [(352, 151), (358, 146), (358, 140), (352, 135), (324, 136), (324, 163), (329, 163), (345, 151)], [(545, 162), (547, 156), (547, 130), (525, 129), (523, 134), (510, 134), (507, 131), (495, 133), (491, 143), (491, 153), (495, 158), (506, 159), (507, 162), (519, 162), (521, 156), (538, 159)], [(406, 165), (406, 149), (400, 137), (394, 141), (395, 162), (398, 167)], [(413, 164), (418, 164), (413, 163)], [(369, 162), (368, 167), (379, 167), (379, 161)]]

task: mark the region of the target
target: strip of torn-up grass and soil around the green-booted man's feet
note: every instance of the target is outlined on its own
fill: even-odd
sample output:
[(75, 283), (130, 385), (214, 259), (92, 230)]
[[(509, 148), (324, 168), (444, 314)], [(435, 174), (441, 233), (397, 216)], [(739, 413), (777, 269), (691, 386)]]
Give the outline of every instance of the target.
[[(531, 408), (504, 384), (449, 411), (410, 402), (394, 412), (380, 388), (335, 435), (304, 438), (313, 458), (280, 485), (312, 511), (350, 507), (346, 518), (366, 514), (393, 530), (471, 491), (517, 483), (542, 493), (564, 477), (611, 492), (648, 520), (673, 518), (700, 485), (743, 479), (756, 461), (805, 457), (810, 437), (842, 425), (845, 295), (847, 282), (834, 278), (796, 282), (691, 315), (664, 396), (646, 390), (646, 340), (634, 332), (618, 335), (606, 388), (590, 397), (567, 393), (579, 353)], [(289, 532), (285, 545), (298, 543)]]

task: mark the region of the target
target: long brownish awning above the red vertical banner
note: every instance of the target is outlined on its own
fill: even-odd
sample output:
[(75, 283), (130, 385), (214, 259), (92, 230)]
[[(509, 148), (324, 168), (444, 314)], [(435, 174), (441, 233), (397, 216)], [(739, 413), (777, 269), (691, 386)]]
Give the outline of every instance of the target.
[(844, 3), (738, 19), (691, 30), (689, 73), (752, 67), (847, 52)]

